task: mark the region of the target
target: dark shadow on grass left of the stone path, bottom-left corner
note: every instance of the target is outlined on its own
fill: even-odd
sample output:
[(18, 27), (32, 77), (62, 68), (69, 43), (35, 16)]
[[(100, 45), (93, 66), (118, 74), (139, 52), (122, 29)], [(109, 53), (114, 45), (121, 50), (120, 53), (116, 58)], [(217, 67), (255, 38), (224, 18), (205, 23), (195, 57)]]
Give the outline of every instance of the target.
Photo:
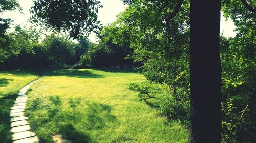
[(0, 142), (12, 142), (10, 110), (15, 99), (0, 99)]

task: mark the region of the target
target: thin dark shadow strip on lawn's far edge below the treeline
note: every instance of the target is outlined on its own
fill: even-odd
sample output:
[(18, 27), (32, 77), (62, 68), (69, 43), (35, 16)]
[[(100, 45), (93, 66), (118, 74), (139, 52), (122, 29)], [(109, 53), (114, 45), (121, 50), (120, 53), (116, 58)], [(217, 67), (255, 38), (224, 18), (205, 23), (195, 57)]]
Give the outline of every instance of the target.
[(67, 77), (77, 77), (77, 78), (103, 78), (103, 75), (94, 74), (87, 70), (53, 70), (45, 74), (46, 76), (67, 76)]

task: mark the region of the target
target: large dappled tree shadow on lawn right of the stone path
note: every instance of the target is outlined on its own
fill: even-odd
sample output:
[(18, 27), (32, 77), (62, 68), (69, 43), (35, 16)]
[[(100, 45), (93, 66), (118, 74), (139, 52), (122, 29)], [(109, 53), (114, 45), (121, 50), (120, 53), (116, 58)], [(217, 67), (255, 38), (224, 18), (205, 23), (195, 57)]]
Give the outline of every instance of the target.
[[(68, 103), (62, 103), (59, 96), (49, 97), (51, 103), (44, 115), (43, 120), (36, 120), (37, 128), (51, 125), (50, 132), (61, 134), (63, 138), (71, 140), (73, 143), (96, 142), (90, 137), (90, 131), (102, 130), (108, 123), (115, 122), (117, 118), (112, 115), (112, 108), (109, 105), (87, 102), (81, 98), (69, 98)], [(36, 99), (35, 103), (40, 99)], [(39, 106), (32, 107), (32, 110), (42, 109)], [(41, 127), (40, 127), (41, 126)], [(49, 140), (40, 138), (43, 142)]]

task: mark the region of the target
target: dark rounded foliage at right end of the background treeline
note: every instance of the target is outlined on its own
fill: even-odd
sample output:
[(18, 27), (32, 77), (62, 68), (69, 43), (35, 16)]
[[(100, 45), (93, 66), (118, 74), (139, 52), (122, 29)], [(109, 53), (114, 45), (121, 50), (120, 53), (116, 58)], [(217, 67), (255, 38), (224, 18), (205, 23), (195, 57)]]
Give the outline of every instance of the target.
[[(88, 49), (86, 55), (82, 56), (81, 63), (85, 67), (132, 67), (133, 60), (129, 56), (133, 50), (129, 47), (129, 43), (116, 43), (116, 36), (119, 28), (115, 23), (105, 26), (100, 31), (101, 41)], [(124, 38), (119, 35), (119, 39)]]

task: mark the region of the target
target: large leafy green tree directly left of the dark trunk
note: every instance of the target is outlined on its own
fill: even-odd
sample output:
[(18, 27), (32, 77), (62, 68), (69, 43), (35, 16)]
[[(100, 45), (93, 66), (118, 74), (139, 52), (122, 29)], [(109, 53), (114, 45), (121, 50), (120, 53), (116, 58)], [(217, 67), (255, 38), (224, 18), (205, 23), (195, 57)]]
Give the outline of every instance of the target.
[[(165, 10), (170, 6), (174, 6), (173, 2), (134, 1), (114, 23), (118, 28), (112, 32), (112, 37), (120, 45), (129, 43), (133, 49), (131, 57), (143, 64), (143, 73), (148, 80), (166, 85), (172, 93), (169, 99), (173, 99), (167, 104), (177, 108), (186, 104), (189, 108), (189, 19), (186, 16), (189, 7), (184, 2), (179, 13), (181, 16), (174, 17), (167, 24), (169, 13)], [(175, 112), (177, 119), (167, 113), (168, 110), (170, 107), (165, 107), (164, 114), (169, 118), (181, 119), (180, 111)], [(184, 112), (188, 117), (188, 110), (184, 108)]]

